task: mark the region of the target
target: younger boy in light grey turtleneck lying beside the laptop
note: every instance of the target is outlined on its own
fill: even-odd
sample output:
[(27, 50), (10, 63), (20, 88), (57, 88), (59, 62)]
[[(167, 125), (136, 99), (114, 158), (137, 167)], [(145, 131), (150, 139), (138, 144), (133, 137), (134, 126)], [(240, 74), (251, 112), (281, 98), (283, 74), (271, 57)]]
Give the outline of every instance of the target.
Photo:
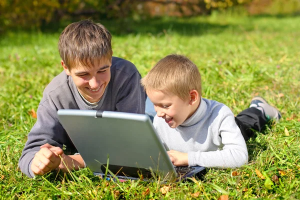
[(153, 125), (176, 166), (235, 168), (247, 163), (245, 140), (280, 113), (261, 97), (236, 117), (224, 104), (201, 97), (197, 66), (182, 55), (162, 58), (142, 78), (157, 114)]

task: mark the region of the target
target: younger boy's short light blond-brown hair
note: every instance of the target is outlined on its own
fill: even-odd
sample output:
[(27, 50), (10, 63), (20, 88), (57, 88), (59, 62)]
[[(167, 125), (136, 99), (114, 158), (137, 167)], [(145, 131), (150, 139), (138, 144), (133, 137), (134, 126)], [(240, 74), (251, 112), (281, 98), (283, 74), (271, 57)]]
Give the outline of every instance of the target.
[(184, 55), (170, 54), (160, 59), (141, 79), (141, 84), (146, 92), (171, 92), (183, 100), (189, 98), (189, 91), (192, 89), (201, 95), (198, 67)]

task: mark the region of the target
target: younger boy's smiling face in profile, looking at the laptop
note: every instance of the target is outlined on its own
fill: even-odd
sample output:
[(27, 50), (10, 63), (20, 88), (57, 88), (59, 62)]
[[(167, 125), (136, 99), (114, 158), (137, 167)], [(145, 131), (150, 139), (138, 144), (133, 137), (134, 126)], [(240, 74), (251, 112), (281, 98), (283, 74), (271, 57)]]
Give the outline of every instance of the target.
[(150, 90), (147, 95), (154, 104), (157, 116), (162, 117), (171, 128), (177, 127), (191, 115), (188, 100), (157, 90)]

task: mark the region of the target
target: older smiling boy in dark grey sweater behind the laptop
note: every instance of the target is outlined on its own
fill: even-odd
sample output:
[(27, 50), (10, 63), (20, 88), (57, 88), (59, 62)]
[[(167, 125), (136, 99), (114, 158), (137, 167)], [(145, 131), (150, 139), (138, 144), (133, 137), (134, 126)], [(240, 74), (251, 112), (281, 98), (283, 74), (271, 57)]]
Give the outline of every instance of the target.
[(132, 113), (145, 109), (139, 72), (131, 62), (112, 57), (111, 35), (102, 24), (91, 20), (69, 24), (59, 36), (58, 49), (64, 70), (44, 89), (37, 121), (19, 159), (21, 171), (29, 177), (55, 168), (84, 167), (57, 118), (58, 109)]

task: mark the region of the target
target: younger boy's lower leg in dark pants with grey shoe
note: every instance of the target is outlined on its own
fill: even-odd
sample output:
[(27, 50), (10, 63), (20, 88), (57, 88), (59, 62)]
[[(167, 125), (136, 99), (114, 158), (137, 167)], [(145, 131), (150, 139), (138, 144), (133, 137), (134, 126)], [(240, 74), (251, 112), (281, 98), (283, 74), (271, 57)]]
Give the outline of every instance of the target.
[(253, 130), (261, 132), (269, 121), (272, 119), (278, 121), (280, 117), (281, 114), (275, 107), (268, 104), (262, 97), (256, 96), (252, 98), (249, 108), (237, 114), (235, 122), (247, 141), (253, 136)]

